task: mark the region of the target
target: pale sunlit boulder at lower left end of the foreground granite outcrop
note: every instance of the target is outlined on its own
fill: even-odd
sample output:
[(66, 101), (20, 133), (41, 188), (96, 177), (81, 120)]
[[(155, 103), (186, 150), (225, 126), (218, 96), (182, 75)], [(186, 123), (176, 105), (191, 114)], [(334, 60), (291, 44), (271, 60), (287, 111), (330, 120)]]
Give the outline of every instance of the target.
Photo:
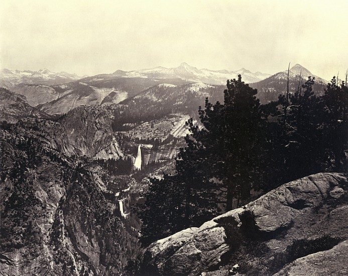
[[(189, 228), (159, 240), (147, 249), (146, 272), (158, 274), (197, 274), (205, 266), (216, 265), (228, 251), (222, 227)], [(163, 258), (167, 256), (168, 258)]]

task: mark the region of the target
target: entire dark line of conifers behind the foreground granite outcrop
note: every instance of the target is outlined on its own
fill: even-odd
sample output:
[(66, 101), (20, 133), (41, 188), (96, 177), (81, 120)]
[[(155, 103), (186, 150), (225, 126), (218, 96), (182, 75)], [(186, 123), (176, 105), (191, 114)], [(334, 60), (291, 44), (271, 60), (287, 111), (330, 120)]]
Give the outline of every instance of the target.
[(145, 204), (135, 210), (143, 222), (143, 246), (250, 201), (251, 190), (272, 190), (317, 172), (346, 172), (348, 89), (333, 77), (322, 96), (309, 77), (261, 105), (257, 90), (241, 76), (227, 81), (224, 102), (208, 99), (190, 119), (187, 146), (180, 149), (176, 175), (150, 179)]

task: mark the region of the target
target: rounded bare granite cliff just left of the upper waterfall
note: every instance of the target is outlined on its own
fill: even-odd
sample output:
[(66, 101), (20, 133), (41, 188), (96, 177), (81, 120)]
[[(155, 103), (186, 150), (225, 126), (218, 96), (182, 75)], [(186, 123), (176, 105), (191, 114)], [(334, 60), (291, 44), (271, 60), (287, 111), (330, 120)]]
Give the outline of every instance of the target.
[(119, 159), (123, 156), (116, 141), (110, 117), (97, 106), (81, 106), (58, 121), (26, 118), (13, 131), (35, 137), (43, 147), (67, 156), (93, 159)]

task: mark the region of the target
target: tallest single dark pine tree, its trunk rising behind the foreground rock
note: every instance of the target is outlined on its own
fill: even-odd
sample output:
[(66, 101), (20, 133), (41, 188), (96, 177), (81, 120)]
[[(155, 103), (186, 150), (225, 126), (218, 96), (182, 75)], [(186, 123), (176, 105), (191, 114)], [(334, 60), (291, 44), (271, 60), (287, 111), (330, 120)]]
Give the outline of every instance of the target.
[(261, 153), (265, 142), (265, 114), (256, 98), (257, 90), (238, 79), (227, 81), (224, 103), (206, 101), (200, 119), (206, 131), (203, 144), (209, 151), (215, 176), (227, 189), (226, 210), (233, 200), (245, 201), (251, 187), (261, 184)]

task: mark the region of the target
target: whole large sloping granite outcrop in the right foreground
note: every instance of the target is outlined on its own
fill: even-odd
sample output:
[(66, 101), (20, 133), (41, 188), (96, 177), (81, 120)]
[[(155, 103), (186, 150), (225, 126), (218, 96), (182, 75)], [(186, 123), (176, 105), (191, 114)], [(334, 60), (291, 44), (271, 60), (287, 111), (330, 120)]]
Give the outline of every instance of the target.
[(152, 243), (140, 274), (347, 275), (347, 203), (345, 176), (304, 177)]

